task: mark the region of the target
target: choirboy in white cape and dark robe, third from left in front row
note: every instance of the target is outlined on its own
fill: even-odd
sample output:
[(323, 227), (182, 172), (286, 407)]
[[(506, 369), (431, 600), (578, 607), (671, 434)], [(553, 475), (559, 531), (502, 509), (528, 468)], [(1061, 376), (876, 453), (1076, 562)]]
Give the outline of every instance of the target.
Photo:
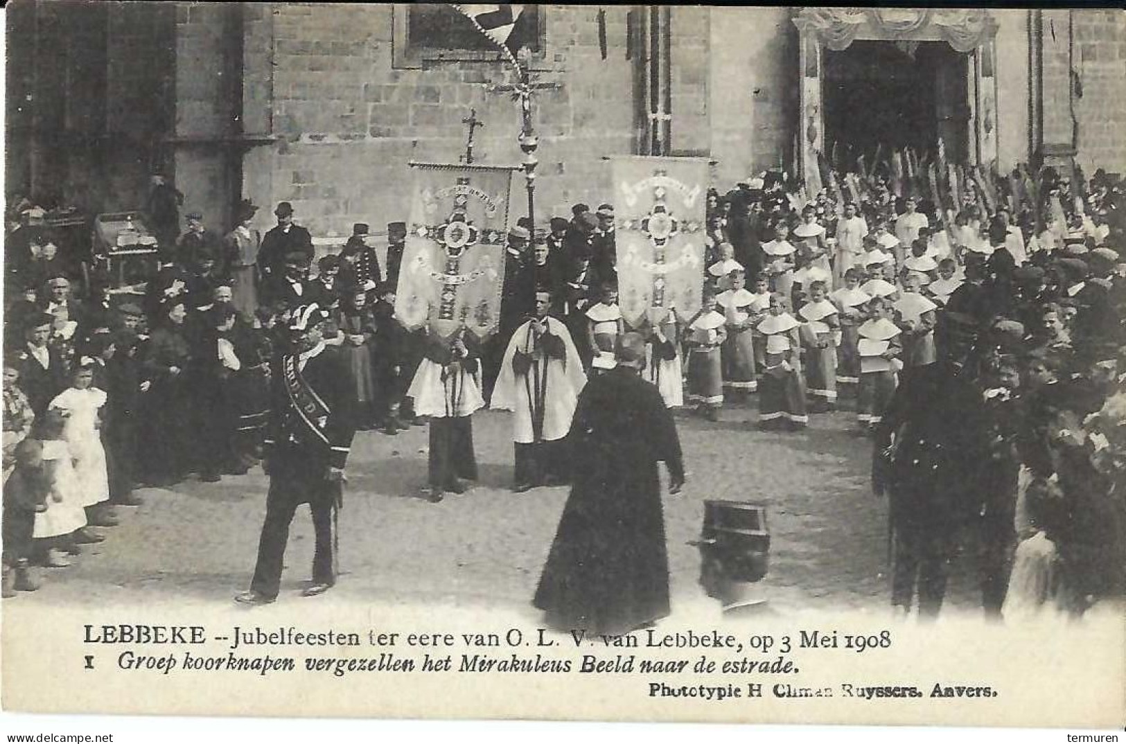
[(770, 312), (759, 323), (766, 337), (766, 369), (759, 384), (759, 428), (797, 431), (810, 422), (798, 359), (799, 323), (786, 312), (781, 293), (770, 295)]

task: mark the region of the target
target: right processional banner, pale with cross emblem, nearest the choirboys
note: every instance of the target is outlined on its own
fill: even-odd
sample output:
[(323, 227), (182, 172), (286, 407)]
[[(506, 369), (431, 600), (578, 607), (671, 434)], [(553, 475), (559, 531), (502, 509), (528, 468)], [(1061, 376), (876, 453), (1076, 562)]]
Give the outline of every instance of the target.
[(611, 158), (618, 303), (626, 322), (688, 320), (700, 308), (708, 161)]

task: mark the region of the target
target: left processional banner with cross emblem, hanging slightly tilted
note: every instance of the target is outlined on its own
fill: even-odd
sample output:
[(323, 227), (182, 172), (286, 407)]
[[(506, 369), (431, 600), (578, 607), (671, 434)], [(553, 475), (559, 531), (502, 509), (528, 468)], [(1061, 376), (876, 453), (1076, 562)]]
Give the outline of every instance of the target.
[(413, 331), (441, 338), (463, 329), (477, 339), (497, 330), (513, 168), (410, 163), (406, 245), (395, 315)]

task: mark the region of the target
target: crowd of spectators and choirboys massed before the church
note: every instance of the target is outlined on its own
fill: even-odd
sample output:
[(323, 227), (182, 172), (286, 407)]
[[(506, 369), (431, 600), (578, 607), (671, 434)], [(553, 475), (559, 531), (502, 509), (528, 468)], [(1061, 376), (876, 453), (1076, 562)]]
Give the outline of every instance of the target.
[[(508, 235), (499, 332), (484, 343), (395, 321), (402, 222), (387, 225), (386, 266), (364, 224), (339, 254), (314, 260), (287, 203), (261, 235), (243, 201), (225, 234), (195, 213), (173, 240), (179, 195), (154, 181), (160, 266), (122, 302), (97, 272), (75, 296), (75, 262), (59, 256), (42, 210), (14, 200), (6, 576), (34, 588), (28, 566), (64, 566), (105, 539), (95, 528), (116, 523), (115, 505), (138, 503), (137, 485), (252, 467), (272, 360), (295, 308), (316, 305), (329, 317), (323, 343), (349, 370), (356, 428), (394, 436), (429, 421), (431, 501), (476, 477), (472, 414), (490, 404), (516, 412), (513, 487), (566, 482), (575, 398), (588, 376), (616, 366), (623, 337), (641, 333), (642, 374), (670, 409), (717, 420), (756, 401), (761, 429), (797, 431), (855, 401), (857, 430), (875, 439), (875, 482), (892, 499), (896, 606), (918, 595), (920, 611), (937, 611), (955, 534), (969, 523), (988, 535), (990, 611), (1024, 602), (1075, 613), (1120, 592), (1120, 187), (1101, 171), (1071, 182), (1051, 169), (1028, 188), (950, 178), (946, 198), (879, 169), (825, 180), (812, 198), (777, 171), (711, 190), (703, 307), (638, 329), (617, 305), (613, 205), (578, 204), (543, 234), (521, 219)], [(951, 339), (972, 342), (955, 353)], [(963, 397), (947, 395), (950, 379), (966, 385)], [(921, 413), (941, 401), (949, 410)], [(936, 496), (944, 478), (917, 473), (954, 461), (904, 463), (911, 432), (927, 427), (935, 447), (963, 438), (951, 447), (966, 455), (958, 477), (978, 479), (955, 496)], [(936, 520), (948, 529), (929, 529)]]

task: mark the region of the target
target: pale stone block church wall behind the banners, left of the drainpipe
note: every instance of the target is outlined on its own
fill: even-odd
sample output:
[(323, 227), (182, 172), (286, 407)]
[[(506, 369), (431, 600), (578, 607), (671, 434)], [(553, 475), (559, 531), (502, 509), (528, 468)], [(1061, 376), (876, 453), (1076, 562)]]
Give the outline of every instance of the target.
[[(271, 54), (248, 56), (257, 101), (269, 100), (279, 142), (244, 161), (244, 182), (259, 204), (288, 200), (314, 235), (373, 230), (409, 210), (408, 161), (457, 162), (462, 119), (476, 109), (474, 161), (518, 164), (519, 105), (486, 83), (511, 83), (500, 62), (427, 63), (395, 69), (388, 5), (267, 6)], [(606, 8), (601, 59), (593, 7), (548, 7), (547, 57), (535, 71), (557, 90), (537, 92), (540, 137), (537, 219), (570, 214), (580, 199), (609, 192), (604, 155), (633, 150), (632, 62), (625, 59), (626, 9)], [(261, 35), (261, 28), (256, 27)], [(248, 92), (248, 95), (250, 95)], [(263, 98), (265, 97), (265, 98)], [(266, 171), (269, 172), (266, 172)], [(268, 191), (268, 192), (262, 192)], [(524, 178), (513, 179), (513, 210), (526, 207)], [(269, 210), (263, 210), (263, 222)]]

